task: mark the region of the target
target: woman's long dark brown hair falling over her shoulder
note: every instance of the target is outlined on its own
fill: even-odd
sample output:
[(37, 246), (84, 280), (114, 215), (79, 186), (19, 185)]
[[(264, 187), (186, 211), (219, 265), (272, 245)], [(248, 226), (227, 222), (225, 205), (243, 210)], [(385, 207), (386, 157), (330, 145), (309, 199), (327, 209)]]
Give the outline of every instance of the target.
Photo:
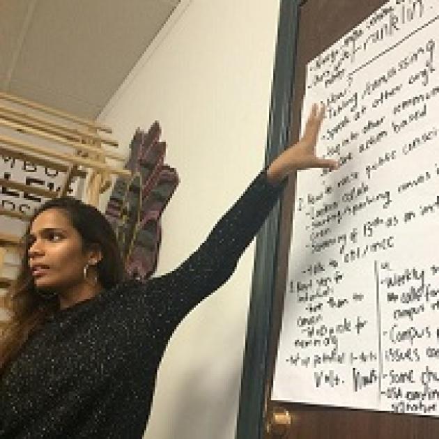
[(98, 281), (105, 289), (116, 286), (125, 276), (116, 235), (98, 209), (70, 197), (52, 199), (40, 206), (26, 228), (20, 271), (6, 296), (12, 316), (0, 337), (0, 376), (20, 352), (29, 334), (59, 309), (58, 300), (47, 300), (38, 295), (29, 268), (29, 247), (26, 245), (33, 220), (52, 208), (61, 210), (70, 219), (82, 238), (84, 251), (99, 246), (102, 259), (96, 268)]

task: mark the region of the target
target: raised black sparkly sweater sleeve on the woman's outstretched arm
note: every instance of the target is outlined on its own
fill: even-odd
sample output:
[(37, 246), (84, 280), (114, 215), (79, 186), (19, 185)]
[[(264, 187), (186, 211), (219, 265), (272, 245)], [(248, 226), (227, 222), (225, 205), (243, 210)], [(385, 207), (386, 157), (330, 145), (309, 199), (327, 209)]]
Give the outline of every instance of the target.
[[(160, 301), (160, 316), (177, 325), (201, 300), (229, 279), (283, 188), (284, 183), (270, 184), (262, 171), (219, 219), (196, 252), (176, 270), (148, 280), (146, 289)], [(151, 294), (148, 299), (151, 300)]]

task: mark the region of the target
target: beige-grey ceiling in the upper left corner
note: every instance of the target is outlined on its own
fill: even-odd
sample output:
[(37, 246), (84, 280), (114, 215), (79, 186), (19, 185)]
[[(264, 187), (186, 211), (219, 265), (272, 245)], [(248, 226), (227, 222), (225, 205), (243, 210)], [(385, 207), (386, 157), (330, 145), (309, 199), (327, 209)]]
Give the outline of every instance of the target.
[(180, 0), (0, 0), (0, 91), (95, 118)]

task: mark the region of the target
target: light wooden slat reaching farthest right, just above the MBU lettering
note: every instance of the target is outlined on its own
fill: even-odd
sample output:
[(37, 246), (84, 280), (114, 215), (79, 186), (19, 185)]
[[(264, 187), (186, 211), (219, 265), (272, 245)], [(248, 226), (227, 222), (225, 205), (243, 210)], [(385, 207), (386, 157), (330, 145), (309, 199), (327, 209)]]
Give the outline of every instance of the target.
[(97, 160), (90, 160), (83, 157), (79, 157), (76, 155), (70, 155), (66, 153), (59, 153), (58, 151), (54, 151), (54, 149), (42, 148), (41, 146), (30, 144), (25, 141), (17, 141), (12, 137), (0, 136), (0, 143), (4, 143), (10, 146), (14, 146), (20, 149), (26, 149), (26, 151), (31, 151), (33, 153), (38, 153), (42, 155), (47, 155), (49, 157), (54, 157), (59, 160), (63, 160), (65, 162), (81, 164), (86, 167), (91, 167), (94, 169), (99, 169), (100, 171), (107, 171), (110, 174), (116, 174), (121, 177), (130, 178), (131, 173), (127, 169), (118, 169), (115, 167), (111, 167), (102, 162), (98, 162)]

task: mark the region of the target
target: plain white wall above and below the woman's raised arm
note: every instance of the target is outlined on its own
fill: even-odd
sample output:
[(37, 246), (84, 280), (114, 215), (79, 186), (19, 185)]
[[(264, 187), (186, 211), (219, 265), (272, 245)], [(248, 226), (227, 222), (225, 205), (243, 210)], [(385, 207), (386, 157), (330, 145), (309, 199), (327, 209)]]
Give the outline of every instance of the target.
[[(181, 183), (165, 210), (158, 273), (194, 251), (263, 165), (279, 0), (183, 0), (100, 120), (128, 148), (160, 121)], [(231, 439), (254, 247), (192, 311), (160, 367), (148, 439)]]

